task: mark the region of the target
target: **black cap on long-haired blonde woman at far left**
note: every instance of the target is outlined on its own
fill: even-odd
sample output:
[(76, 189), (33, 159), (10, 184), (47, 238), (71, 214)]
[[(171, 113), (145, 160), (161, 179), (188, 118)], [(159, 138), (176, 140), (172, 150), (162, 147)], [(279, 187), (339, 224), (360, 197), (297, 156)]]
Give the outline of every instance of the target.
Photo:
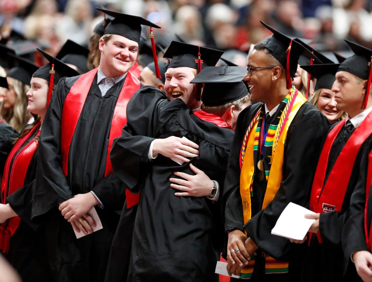
[(22, 58), (11, 53), (8, 53), (8, 55), (12, 58), (13, 67), (9, 69), (6, 76), (19, 80), (23, 84), (30, 85), (32, 74), (39, 67), (32, 61), (29, 61), (28, 59)]

